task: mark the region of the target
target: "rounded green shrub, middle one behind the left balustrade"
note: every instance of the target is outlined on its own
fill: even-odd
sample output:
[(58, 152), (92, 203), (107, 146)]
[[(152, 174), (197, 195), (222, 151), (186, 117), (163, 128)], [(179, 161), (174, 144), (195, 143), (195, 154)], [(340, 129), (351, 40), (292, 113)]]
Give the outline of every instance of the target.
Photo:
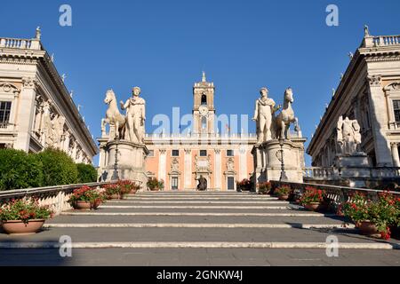
[(68, 154), (55, 149), (46, 149), (38, 154), (43, 163), (44, 186), (70, 185), (78, 181), (76, 163)]

